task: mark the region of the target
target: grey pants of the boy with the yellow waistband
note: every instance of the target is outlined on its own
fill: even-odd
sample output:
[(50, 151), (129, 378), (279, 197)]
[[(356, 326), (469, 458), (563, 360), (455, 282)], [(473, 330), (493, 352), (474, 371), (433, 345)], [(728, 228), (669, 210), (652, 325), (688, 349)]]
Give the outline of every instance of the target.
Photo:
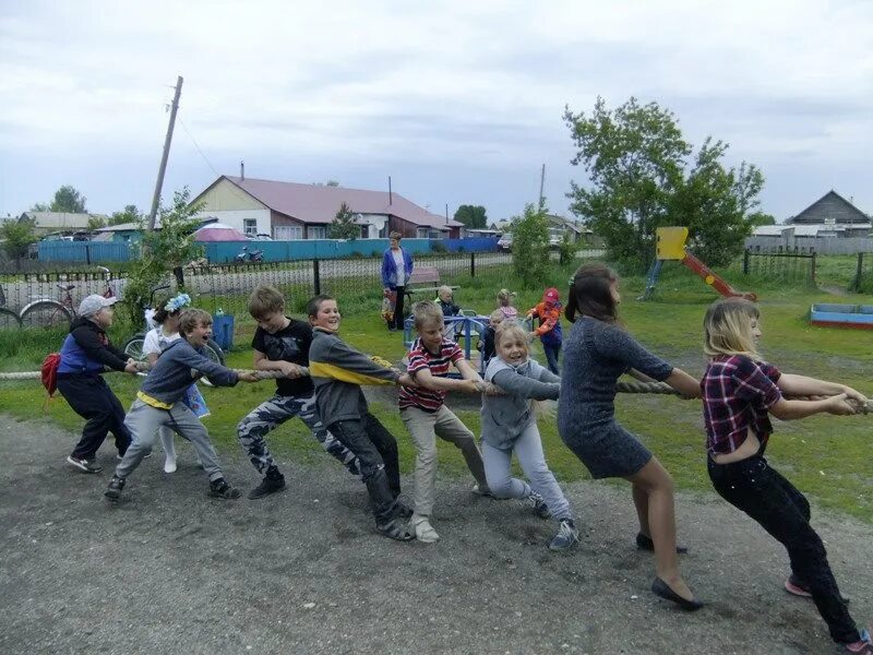
[(194, 445), (210, 480), (224, 477), (218, 455), (215, 454), (210, 441), (210, 433), (194, 413), (182, 403), (174, 404), (171, 409), (157, 409), (137, 398), (133, 401), (124, 418), (124, 426), (130, 430), (133, 442), (124, 453), (124, 458), (116, 467), (117, 477), (127, 478), (135, 471), (140, 462), (152, 451), (157, 429), (162, 427), (174, 430)]

